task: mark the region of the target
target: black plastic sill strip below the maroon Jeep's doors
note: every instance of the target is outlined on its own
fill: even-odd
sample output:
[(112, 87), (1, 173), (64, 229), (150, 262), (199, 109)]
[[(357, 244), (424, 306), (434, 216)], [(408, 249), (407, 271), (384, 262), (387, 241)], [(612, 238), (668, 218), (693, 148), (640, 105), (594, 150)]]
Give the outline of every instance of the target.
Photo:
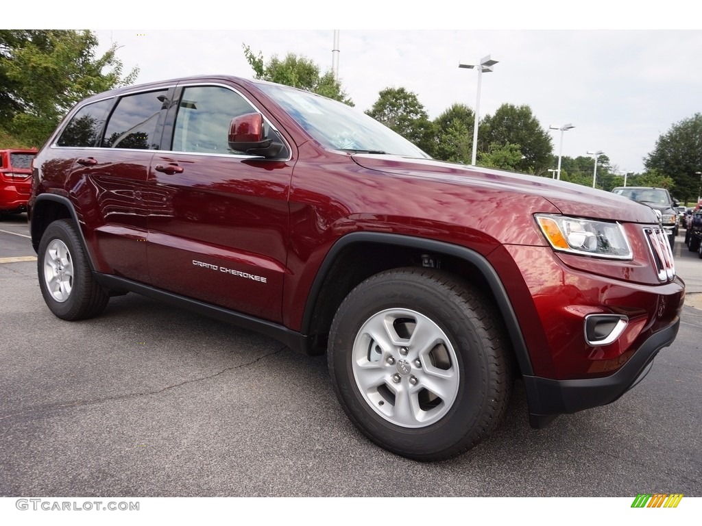
[(182, 307), (184, 309), (203, 314), (204, 316), (209, 316), (210, 318), (232, 323), (232, 325), (238, 325), (239, 327), (245, 329), (262, 332), (265, 335), (277, 339), (286, 346), (289, 346), (289, 348), (293, 351), (309, 353), (309, 342), (307, 337), (301, 335), (299, 332), (286, 328), (283, 325), (279, 325), (278, 323), (261, 320), (259, 318), (254, 318), (253, 316), (248, 316), (236, 311), (230, 311), (229, 309), (224, 309), (220, 306), (215, 306), (201, 302), (197, 299), (173, 294), (173, 292), (166, 292), (165, 290), (154, 288), (150, 285), (144, 285), (143, 283), (131, 281), (126, 278), (120, 278), (119, 276), (101, 274), (100, 272), (93, 272), (93, 275), (95, 276), (95, 280), (108, 290), (128, 290), (129, 292), (135, 292), (139, 295), (150, 297), (151, 299), (157, 299), (161, 302), (166, 302), (167, 304)]

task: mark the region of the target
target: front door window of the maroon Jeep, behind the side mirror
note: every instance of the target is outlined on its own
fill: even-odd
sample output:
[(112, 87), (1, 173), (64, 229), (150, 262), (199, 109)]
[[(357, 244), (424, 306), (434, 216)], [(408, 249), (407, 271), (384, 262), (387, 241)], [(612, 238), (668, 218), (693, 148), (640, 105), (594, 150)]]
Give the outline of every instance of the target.
[(174, 151), (241, 154), (229, 147), (229, 125), (239, 115), (256, 112), (238, 93), (222, 86), (185, 88), (173, 130)]

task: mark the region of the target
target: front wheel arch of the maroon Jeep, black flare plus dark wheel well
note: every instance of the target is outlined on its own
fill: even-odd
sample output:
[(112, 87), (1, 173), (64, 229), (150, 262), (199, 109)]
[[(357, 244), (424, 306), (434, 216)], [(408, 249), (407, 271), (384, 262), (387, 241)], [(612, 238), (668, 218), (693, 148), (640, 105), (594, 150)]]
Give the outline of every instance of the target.
[(353, 232), (329, 250), (307, 296), (301, 325), (316, 352), (326, 348), (331, 319), (346, 295), (373, 274), (397, 267), (435, 267), (477, 285), (501, 313), (519, 371), (534, 374), (522, 328), (501, 278), (488, 260), (460, 245), (400, 234)]

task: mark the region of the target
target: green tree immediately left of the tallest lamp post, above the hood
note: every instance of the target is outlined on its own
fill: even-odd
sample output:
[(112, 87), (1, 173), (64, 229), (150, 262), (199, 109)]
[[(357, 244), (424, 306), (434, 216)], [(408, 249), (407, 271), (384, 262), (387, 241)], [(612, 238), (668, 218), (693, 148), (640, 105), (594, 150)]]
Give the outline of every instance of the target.
[(435, 159), (468, 164), (472, 154), (475, 114), (465, 104), (453, 104), (433, 121), (435, 135), (427, 150)]

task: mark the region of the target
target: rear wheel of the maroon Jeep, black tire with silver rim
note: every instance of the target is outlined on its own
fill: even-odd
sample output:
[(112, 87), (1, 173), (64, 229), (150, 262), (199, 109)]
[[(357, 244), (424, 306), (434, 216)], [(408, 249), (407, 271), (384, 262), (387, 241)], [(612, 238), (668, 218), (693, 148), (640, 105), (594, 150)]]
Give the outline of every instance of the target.
[(51, 223), (41, 236), (37, 255), (41, 295), (56, 316), (77, 321), (105, 309), (110, 296), (93, 278), (72, 221)]

